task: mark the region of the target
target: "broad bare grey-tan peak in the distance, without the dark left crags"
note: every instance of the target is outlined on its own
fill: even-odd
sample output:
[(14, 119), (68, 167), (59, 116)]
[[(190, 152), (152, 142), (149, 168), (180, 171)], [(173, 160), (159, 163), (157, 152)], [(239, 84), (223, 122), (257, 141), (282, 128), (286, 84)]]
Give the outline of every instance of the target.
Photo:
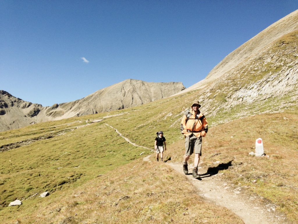
[[(127, 79), (77, 100), (75, 104), (60, 104), (60, 108), (66, 111), (61, 118), (130, 108), (171, 96), (183, 89), (181, 82), (153, 83)], [(59, 111), (59, 108), (52, 111)]]

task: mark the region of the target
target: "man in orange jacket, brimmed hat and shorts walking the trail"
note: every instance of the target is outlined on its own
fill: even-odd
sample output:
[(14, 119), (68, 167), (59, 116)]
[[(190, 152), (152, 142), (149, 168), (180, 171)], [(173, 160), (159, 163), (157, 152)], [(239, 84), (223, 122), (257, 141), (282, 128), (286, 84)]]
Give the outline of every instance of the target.
[(191, 110), (186, 112), (181, 120), (183, 125), (182, 134), (185, 136), (185, 155), (183, 160), (184, 174), (188, 174), (187, 161), (195, 153), (193, 168), (193, 177), (199, 178), (198, 164), (202, 155), (202, 137), (205, 137), (208, 131), (208, 123), (205, 116), (200, 112), (201, 107), (198, 101), (194, 101)]

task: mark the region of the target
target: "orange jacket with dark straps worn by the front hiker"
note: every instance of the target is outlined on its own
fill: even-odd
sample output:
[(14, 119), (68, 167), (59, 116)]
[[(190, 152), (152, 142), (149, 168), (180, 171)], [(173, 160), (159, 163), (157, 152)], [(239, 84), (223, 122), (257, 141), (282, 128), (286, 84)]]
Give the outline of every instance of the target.
[[(184, 134), (185, 136), (189, 136), (192, 134), (192, 132), (188, 132), (187, 130), (190, 131), (201, 131), (201, 132), (194, 132), (193, 134), (197, 137), (200, 136), (206, 136), (206, 132), (203, 131), (205, 128), (207, 128), (208, 126), (208, 122), (206, 120), (206, 118), (203, 118), (203, 122), (201, 122), (200, 118), (204, 116), (202, 113), (197, 114), (197, 119), (195, 119), (195, 112), (193, 111), (193, 109), (190, 110), (190, 119), (188, 119), (187, 123), (186, 123), (186, 115), (184, 114), (182, 119), (181, 119), (181, 124), (183, 125), (183, 131), (182, 134)], [(203, 123), (203, 124), (202, 124)], [(194, 125), (195, 124), (195, 125)]]

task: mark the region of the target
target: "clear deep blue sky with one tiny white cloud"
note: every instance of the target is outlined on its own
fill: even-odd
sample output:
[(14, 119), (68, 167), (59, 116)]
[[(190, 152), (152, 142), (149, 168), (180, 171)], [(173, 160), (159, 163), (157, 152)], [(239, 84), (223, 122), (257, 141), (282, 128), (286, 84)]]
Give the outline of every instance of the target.
[(0, 89), (43, 106), (125, 79), (204, 79), (297, 0), (1, 0)]

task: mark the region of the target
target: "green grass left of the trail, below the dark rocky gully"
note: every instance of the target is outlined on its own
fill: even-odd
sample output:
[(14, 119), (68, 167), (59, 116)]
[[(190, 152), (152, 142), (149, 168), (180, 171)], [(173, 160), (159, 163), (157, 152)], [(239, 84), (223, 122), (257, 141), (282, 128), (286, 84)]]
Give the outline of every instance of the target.
[(101, 123), (6, 151), (0, 164), (1, 205), (16, 195), (25, 199), (35, 192), (81, 185), (139, 158), (141, 151)]

